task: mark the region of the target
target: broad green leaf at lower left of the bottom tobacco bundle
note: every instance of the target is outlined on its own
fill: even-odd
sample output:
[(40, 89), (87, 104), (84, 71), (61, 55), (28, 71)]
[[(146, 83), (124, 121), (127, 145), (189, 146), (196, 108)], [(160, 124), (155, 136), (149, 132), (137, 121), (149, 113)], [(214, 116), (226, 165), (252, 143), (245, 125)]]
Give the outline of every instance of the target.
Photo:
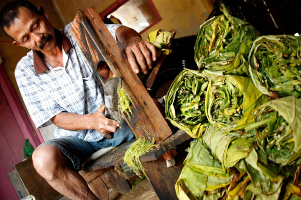
[[(195, 199), (195, 197), (201, 197), (204, 191), (211, 191), (207, 194), (213, 194), (220, 191), (216, 189), (229, 185), (233, 179), (233, 174), (223, 169), (221, 164), (213, 158), (201, 138), (191, 142), (184, 164), (176, 183), (179, 199), (187, 199), (189, 196), (189, 198)], [(209, 199), (216, 199), (222, 194), (210, 195)]]

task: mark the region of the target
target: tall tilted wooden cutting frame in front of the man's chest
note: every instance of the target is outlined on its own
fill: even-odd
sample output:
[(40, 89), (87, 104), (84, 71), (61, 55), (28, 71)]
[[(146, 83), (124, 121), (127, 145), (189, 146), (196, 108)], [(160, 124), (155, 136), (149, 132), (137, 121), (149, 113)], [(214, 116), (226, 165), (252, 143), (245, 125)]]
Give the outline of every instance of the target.
[[(132, 103), (132, 116), (125, 119), (135, 136), (154, 138), (157, 142), (169, 137), (172, 131), (165, 118), (93, 7), (77, 13), (71, 34), (94, 72), (103, 56), (113, 74), (121, 78), (122, 88)], [(98, 75), (104, 84), (105, 77)]]

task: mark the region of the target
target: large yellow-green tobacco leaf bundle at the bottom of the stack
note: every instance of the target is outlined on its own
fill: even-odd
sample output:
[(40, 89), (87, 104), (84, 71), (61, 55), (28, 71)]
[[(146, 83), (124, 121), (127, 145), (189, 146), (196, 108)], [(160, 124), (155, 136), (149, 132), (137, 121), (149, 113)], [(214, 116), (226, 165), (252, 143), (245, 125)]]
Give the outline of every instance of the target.
[(191, 142), (176, 183), (177, 195), (180, 200), (278, 199), (281, 188), (287, 187), (285, 175), (266, 160), (254, 131), (225, 133), (210, 126)]

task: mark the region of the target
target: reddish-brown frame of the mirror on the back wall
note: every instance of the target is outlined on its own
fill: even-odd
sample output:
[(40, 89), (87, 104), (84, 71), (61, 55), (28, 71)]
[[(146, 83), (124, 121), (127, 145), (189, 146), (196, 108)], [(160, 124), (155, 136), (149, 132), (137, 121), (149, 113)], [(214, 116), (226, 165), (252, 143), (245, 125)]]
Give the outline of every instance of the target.
[[(105, 19), (107, 18), (107, 16), (111, 13), (113, 13), (114, 11), (116, 11), (119, 7), (121, 7), (123, 4), (125, 4), (126, 2), (128, 2), (129, 0), (118, 0), (117, 2), (115, 2), (114, 4), (112, 4), (109, 8), (107, 8), (106, 10), (104, 10), (102, 13), (100, 13), (100, 17), (101, 19)], [(144, 33), (145, 31), (147, 31), (149, 28), (153, 27), (155, 24), (157, 24), (158, 22), (160, 22), (162, 20), (159, 12), (157, 11), (154, 3), (152, 2), (152, 0), (147, 0), (148, 4), (150, 5), (150, 7), (152, 7), (157, 20), (155, 22), (153, 22), (152, 24), (150, 24), (148, 27), (146, 27), (145, 29), (143, 29), (142, 31), (139, 32), (139, 34)]]

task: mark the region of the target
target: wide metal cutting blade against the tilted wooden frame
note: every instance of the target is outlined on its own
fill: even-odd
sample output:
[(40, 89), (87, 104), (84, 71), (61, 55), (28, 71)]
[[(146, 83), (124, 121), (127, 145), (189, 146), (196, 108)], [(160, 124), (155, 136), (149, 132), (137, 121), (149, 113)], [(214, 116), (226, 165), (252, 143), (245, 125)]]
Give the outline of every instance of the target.
[(122, 117), (118, 110), (118, 94), (121, 89), (121, 79), (118, 77), (110, 78), (104, 88), (104, 105), (105, 116), (109, 119), (116, 120), (119, 123), (119, 128), (122, 130)]

